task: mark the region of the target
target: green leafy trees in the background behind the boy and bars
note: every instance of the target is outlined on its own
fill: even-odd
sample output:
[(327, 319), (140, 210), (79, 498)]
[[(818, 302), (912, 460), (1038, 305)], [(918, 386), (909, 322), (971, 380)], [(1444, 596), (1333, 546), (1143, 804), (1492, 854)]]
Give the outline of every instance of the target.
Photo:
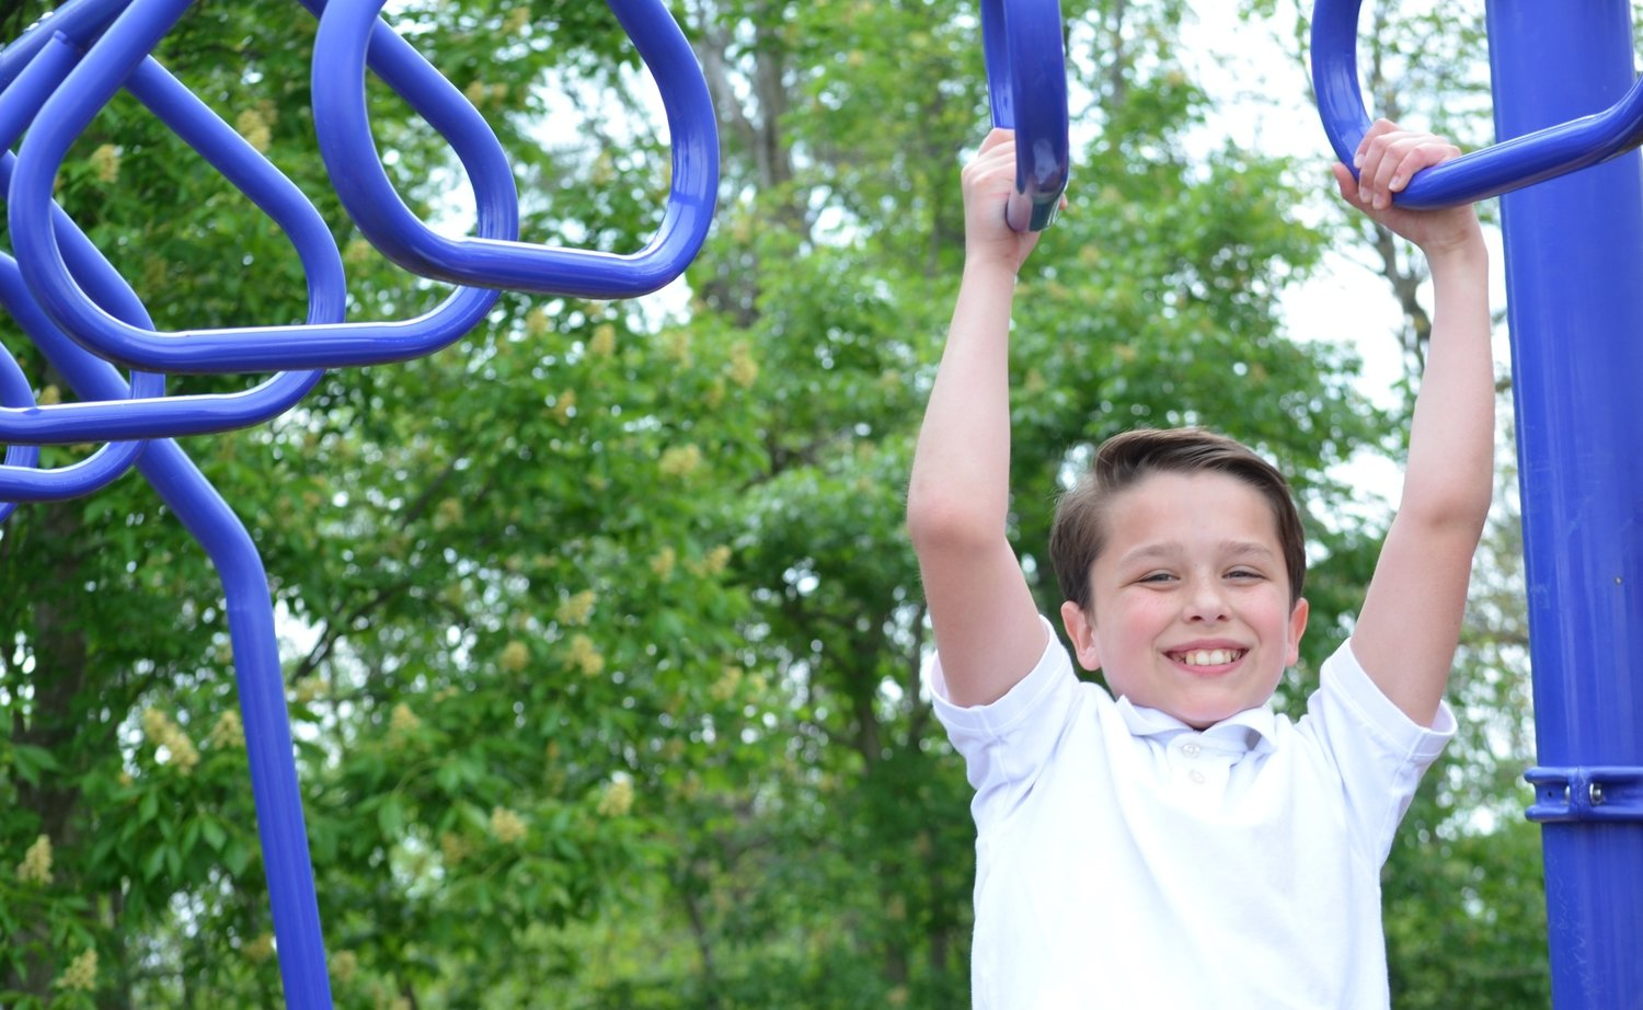
[[(968, 785), (922, 690), (900, 526), (956, 289), (958, 166), (986, 125), (976, 11), (675, 10), (725, 158), (685, 284), (624, 304), (503, 296), (429, 360), (338, 371), (274, 424), (186, 442), (283, 614), (338, 1005), (966, 999)], [(1339, 465), (1390, 427), (1354, 393), (1351, 351), (1278, 322), (1328, 240), (1291, 213), (1321, 172), (1183, 153), (1213, 115), (1180, 61), (1183, 3), (1063, 15), (1084, 141), (1019, 299), (1012, 534), (1053, 608), (1048, 504), (1089, 447), (1188, 422), (1262, 447), (1316, 544), (1296, 698), (1374, 557)], [(667, 145), (603, 7), (394, 16), (509, 148), (526, 238), (647, 240)], [(411, 317), (444, 289), (386, 264), (327, 195), (312, 38), (301, 15), (266, 31), (256, 5), (199, 5), (161, 57), (314, 195), (350, 319)], [(442, 145), (370, 95), (401, 192), (460, 222)], [(133, 102), (92, 125), (59, 195), (161, 327), (301, 319), (284, 240)], [(20, 509), (0, 580), (0, 1003), (278, 1003), (227, 616), (199, 549), (133, 476)], [(1388, 885), (1388, 938), (1411, 979), (1526, 915), (1520, 880), (1475, 884), (1513, 849), (1456, 816), (1420, 821), (1393, 864), (1411, 884)], [(1493, 918), (1401, 911), (1467, 887)], [(1485, 990), (1500, 953), (1466, 956)]]

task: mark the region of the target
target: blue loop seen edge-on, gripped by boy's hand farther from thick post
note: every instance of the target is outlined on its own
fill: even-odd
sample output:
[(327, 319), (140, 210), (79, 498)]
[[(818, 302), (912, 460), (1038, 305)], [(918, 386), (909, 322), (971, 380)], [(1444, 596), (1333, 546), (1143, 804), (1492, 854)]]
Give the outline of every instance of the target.
[(1071, 164), (1066, 54), (1058, 0), (983, 0), (992, 125), (1015, 131), (1015, 192), (1004, 217), (1017, 232), (1055, 222)]

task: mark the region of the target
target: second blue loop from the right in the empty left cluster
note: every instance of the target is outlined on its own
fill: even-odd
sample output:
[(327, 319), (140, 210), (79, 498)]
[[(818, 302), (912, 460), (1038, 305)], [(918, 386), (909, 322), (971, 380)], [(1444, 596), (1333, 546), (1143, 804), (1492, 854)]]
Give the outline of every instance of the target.
[[(140, 89), (148, 92), (150, 87), (164, 92), (169, 87), (161, 84), (161, 76), (156, 74), (158, 64), (150, 69), (145, 61), (148, 49), (187, 7), (189, 0), (133, 0), (69, 79), (51, 94), (23, 141), (16, 174), (12, 179), (8, 213), (25, 278), (53, 320), (108, 361), (174, 373), (274, 371), (404, 361), (457, 342), (483, 320), (496, 304), (498, 292), (476, 287), (458, 289), (432, 312), (404, 322), (314, 322), (169, 333), (115, 319), (87, 297), (81, 279), (64, 263), (54, 232), (48, 227), (49, 195), (58, 166), (127, 76), (131, 76), (133, 92)], [(373, 44), (373, 69), (378, 69), (380, 76), (452, 143), (475, 186), (483, 187), (480, 233), (486, 238), (518, 236), (513, 176), (501, 145), (483, 117), (404, 39), (388, 33), (383, 41), (388, 44)], [(164, 79), (169, 80), (169, 76)], [(148, 95), (154, 97), (153, 92)], [(156, 113), (171, 102), (197, 103), (177, 85), (177, 94), (159, 95)], [(168, 125), (189, 143), (196, 143), (189, 135), (192, 130), (215, 130), (194, 120), (181, 117), (179, 120), (181, 125), (169, 122)], [(232, 146), (235, 141), (223, 136), (222, 143)], [(202, 153), (210, 158), (209, 148), (207, 141)], [(261, 156), (255, 161), (266, 164)], [(232, 168), (235, 168), (232, 156), (227, 164), (219, 164), (219, 171), (225, 176)], [(499, 192), (498, 179), (506, 181), (504, 194)], [(240, 184), (238, 179), (235, 184)], [(253, 191), (248, 195), (256, 199), (258, 194)], [(292, 238), (296, 240), (296, 235)], [(329, 232), (327, 243), (330, 245)], [(335, 256), (335, 245), (330, 245), (330, 256)]]

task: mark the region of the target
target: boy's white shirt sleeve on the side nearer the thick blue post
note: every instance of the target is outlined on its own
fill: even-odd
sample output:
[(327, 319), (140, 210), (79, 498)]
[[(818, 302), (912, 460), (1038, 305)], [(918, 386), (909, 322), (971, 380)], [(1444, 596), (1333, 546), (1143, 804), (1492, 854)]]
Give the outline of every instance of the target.
[(1421, 775), (1454, 739), (1454, 713), (1439, 705), (1429, 729), (1410, 719), (1364, 672), (1351, 639), (1324, 660), (1319, 678), (1306, 701), (1309, 734), (1341, 775), (1352, 836), (1380, 865)]

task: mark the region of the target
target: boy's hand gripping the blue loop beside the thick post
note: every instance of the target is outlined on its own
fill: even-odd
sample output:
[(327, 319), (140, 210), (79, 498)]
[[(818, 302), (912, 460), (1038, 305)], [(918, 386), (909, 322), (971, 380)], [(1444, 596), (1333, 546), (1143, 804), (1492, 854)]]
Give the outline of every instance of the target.
[(1461, 148), (1431, 133), (1401, 130), (1377, 120), (1357, 146), (1357, 179), (1344, 164), (1334, 164), (1341, 197), (1377, 223), (1418, 245), (1428, 256), (1464, 245), (1479, 235), (1477, 212), (1470, 204), (1438, 210), (1405, 210), (1392, 195), (1410, 184), (1415, 172), (1461, 156)]

